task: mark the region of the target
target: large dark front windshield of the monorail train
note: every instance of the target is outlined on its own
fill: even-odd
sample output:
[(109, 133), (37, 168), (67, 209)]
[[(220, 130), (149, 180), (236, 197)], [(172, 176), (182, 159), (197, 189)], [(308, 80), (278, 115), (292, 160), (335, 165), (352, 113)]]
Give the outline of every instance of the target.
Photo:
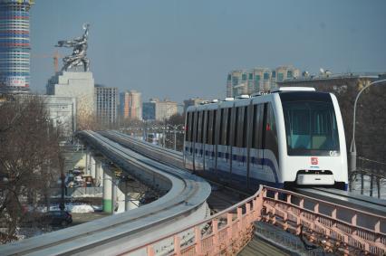
[(283, 102), (289, 156), (337, 156), (339, 137), (333, 103)]

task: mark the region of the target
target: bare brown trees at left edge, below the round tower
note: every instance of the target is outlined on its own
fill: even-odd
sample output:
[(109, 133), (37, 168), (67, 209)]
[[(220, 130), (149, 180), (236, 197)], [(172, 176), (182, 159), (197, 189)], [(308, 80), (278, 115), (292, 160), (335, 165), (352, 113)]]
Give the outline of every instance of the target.
[(58, 131), (43, 101), (34, 96), (0, 102), (0, 242), (49, 201), (49, 187), (63, 167)]

